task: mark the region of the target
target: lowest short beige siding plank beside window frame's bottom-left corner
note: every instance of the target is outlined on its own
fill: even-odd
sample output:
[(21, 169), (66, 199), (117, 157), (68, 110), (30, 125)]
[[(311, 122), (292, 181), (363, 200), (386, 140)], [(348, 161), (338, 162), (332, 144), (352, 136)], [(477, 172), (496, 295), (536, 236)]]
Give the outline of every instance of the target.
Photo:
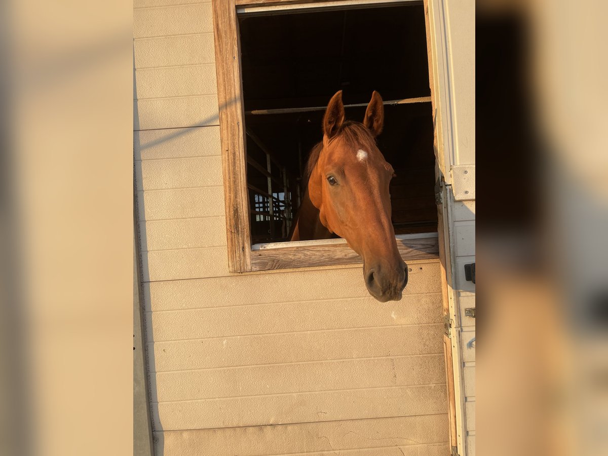
[(142, 252), (143, 281), (218, 277), (228, 274), (226, 247)]

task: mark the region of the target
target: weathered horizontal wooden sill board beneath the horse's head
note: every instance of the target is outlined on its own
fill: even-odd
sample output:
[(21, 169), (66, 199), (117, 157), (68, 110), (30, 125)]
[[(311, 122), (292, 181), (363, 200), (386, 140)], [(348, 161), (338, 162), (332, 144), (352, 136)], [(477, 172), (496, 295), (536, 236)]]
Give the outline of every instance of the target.
[[(439, 254), (437, 237), (398, 239), (397, 246), (401, 257), (406, 262), (438, 258)], [(254, 271), (362, 262), (361, 257), (345, 243), (260, 249), (251, 252), (251, 264)]]

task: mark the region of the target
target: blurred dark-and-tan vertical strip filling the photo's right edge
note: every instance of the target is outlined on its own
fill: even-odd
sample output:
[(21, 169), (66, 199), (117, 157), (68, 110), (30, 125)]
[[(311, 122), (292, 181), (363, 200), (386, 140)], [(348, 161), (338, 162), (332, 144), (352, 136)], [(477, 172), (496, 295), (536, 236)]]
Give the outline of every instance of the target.
[(479, 454), (608, 454), (607, 12), (477, 2)]

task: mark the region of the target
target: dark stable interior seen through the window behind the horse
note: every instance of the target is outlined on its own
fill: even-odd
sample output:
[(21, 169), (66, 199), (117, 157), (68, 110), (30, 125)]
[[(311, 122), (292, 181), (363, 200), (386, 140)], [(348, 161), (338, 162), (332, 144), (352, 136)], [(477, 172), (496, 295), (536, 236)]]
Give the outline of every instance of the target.
[[(347, 120), (358, 122), (374, 90), (384, 102), (430, 97), (423, 4), (274, 12), (239, 26), (252, 243), (288, 241), (331, 96), (342, 90)], [(384, 117), (395, 233), (435, 232), (431, 104), (385, 104)]]

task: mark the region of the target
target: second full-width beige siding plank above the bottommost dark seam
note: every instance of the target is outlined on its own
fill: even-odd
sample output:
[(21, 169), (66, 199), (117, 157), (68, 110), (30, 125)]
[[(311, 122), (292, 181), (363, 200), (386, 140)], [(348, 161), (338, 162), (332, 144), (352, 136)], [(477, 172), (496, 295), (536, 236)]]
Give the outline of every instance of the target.
[[(221, 354), (218, 354), (221, 356)], [(441, 384), (443, 354), (157, 373), (152, 401)]]

